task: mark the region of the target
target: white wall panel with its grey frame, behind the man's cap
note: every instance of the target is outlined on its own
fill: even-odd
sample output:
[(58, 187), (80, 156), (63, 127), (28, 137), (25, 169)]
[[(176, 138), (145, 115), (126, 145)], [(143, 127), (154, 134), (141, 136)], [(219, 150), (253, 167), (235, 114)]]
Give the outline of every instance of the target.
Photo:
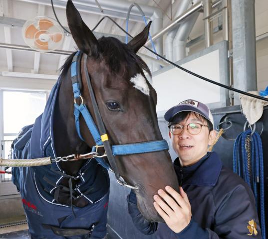
[[(228, 42), (222, 41), (198, 53), (188, 56), (177, 65), (206, 77), (212, 81), (229, 85)], [(152, 74), (152, 85), (156, 90), (158, 116), (178, 103), (193, 99), (207, 104), (210, 108), (229, 105), (229, 92), (196, 76), (166, 66)]]

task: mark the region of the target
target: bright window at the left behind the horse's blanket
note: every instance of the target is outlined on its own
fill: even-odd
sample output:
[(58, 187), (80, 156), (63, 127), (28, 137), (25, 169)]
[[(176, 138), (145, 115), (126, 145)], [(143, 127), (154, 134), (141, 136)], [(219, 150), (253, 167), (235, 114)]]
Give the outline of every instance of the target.
[[(0, 91), (1, 157), (8, 158), (10, 146), (20, 129), (43, 112), (46, 92)], [(3, 170), (4, 168), (1, 168)], [(10, 181), (11, 174), (0, 174), (0, 182)]]

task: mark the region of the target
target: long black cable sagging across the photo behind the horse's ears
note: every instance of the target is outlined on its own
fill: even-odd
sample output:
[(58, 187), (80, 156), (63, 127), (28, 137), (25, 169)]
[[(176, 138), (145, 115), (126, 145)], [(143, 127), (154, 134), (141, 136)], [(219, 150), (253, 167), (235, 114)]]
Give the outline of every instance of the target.
[[(52, 4), (53, 11), (54, 11), (53, 1), (52, 1), (52, 0), (51, 0), (51, 4)], [(56, 16), (55, 11), (54, 11), (54, 14), (55, 14), (55, 17), (56, 17), (58, 23), (60, 24), (60, 22), (59, 22), (59, 20), (58, 20), (58, 18), (57, 18), (57, 16)], [(133, 36), (131, 36), (128, 32), (125, 31), (125, 29), (123, 29), (121, 26), (119, 26), (119, 25), (116, 23), (115, 20), (113, 20), (111, 17), (106, 16), (106, 15), (103, 16), (103, 17), (98, 21), (98, 23), (95, 25), (95, 27), (92, 29), (92, 31), (94, 31), (94, 30), (97, 28), (97, 26), (103, 21), (103, 19), (106, 18), (106, 17), (107, 17), (108, 19), (110, 19), (115, 25), (117, 25), (117, 26), (118, 26), (124, 33), (126, 33), (128, 36), (130, 36), (131, 38), (133, 38)], [(68, 31), (67, 31), (61, 24), (60, 24), (60, 26), (61, 26), (66, 32), (68, 32)], [(68, 33), (71, 34), (70, 32), (68, 32)], [(151, 50), (151, 49), (148, 48), (147, 46), (143, 46), (143, 47), (144, 47), (145, 49), (147, 49), (148, 51), (152, 52), (153, 54), (155, 54), (156, 56), (160, 57), (162, 60), (168, 62), (169, 64), (171, 64), (171, 65), (173, 65), (173, 66), (175, 66), (175, 67), (177, 67), (177, 68), (179, 68), (179, 69), (181, 69), (181, 70), (183, 70), (183, 71), (185, 71), (185, 72), (187, 72), (187, 73), (189, 73), (189, 74), (191, 74), (191, 75), (193, 75), (193, 76), (195, 76), (195, 77), (198, 77), (198, 78), (200, 78), (200, 79), (202, 79), (202, 80), (204, 80), (204, 81), (210, 82), (210, 83), (212, 83), (212, 84), (214, 84), (214, 85), (223, 87), (223, 88), (228, 89), (228, 90), (230, 90), (230, 91), (234, 91), (234, 92), (240, 93), (240, 94), (242, 94), (242, 95), (250, 96), (250, 97), (253, 97), (253, 98), (256, 98), (256, 99), (259, 99), (259, 100), (263, 100), (263, 101), (267, 101), (267, 102), (268, 102), (268, 99), (267, 99), (267, 98), (264, 98), (264, 97), (261, 97), (261, 96), (257, 96), (257, 95), (253, 95), (253, 94), (251, 94), (251, 93), (248, 93), (248, 92), (245, 92), (245, 91), (238, 90), (238, 89), (233, 88), (233, 87), (231, 87), (231, 86), (226, 86), (226, 85), (221, 84), (221, 83), (219, 83), (219, 82), (210, 80), (210, 79), (208, 79), (208, 78), (206, 78), (206, 77), (204, 77), (204, 76), (200, 76), (200, 75), (198, 75), (198, 74), (196, 74), (196, 73), (194, 73), (194, 72), (192, 72), (192, 71), (189, 71), (189, 70), (187, 70), (187, 69), (185, 69), (185, 68), (183, 68), (183, 67), (177, 65), (176, 63), (174, 63), (174, 62), (172, 62), (172, 61), (166, 59), (165, 57), (163, 57), (163, 56), (159, 55), (158, 53), (154, 52), (153, 50)]]

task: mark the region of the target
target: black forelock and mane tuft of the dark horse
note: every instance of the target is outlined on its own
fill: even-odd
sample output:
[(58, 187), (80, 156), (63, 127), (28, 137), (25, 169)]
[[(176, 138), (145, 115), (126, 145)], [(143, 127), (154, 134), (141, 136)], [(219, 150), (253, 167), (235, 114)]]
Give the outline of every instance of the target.
[[(120, 40), (114, 37), (101, 37), (98, 39), (98, 42), (100, 44), (101, 53), (112, 72), (119, 72), (121, 67), (120, 62), (124, 62), (129, 69), (132, 69), (131, 66), (134, 64), (138, 64), (141, 73), (143, 74), (143, 70), (145, 70), (152, 78), (151, 72), (146, 63), (132, 49), (130, 49), (127, 44), (122, 43)], [(73, 52), (60, 68), (61, 75), (64, 76), (68, 72), (75, 53), (76, 52)]]

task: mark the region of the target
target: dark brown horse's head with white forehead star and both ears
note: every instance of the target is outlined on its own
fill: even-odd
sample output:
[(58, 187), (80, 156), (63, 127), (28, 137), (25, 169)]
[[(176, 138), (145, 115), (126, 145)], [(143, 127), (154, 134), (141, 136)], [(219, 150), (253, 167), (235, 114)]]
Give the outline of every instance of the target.
[[(128, 44), (113, 37), (95, 38), (79, 12), (68, 0), (68, 25), (81, 52), (87, 55), (87, 72), (81, 67), (84, 104), (95, 119), (86, 83), (89, 74), (95, 98), (111, 145), (162, 140), (156, 115), (157, 94), (147, 77), (151, 73), (137, 51), (145, 44), (150, 23)], [(148, 76), (145, 76), (146, 71)], [(88, 146), (94, 141), (84, 121), (81, 134)], [(150, 221), (162, 221), (153, 207), (153, 195), (166, 185), (178, 190), (168, 151), (116, 156), (120, 175), (136, 187), (141, 213)]]

